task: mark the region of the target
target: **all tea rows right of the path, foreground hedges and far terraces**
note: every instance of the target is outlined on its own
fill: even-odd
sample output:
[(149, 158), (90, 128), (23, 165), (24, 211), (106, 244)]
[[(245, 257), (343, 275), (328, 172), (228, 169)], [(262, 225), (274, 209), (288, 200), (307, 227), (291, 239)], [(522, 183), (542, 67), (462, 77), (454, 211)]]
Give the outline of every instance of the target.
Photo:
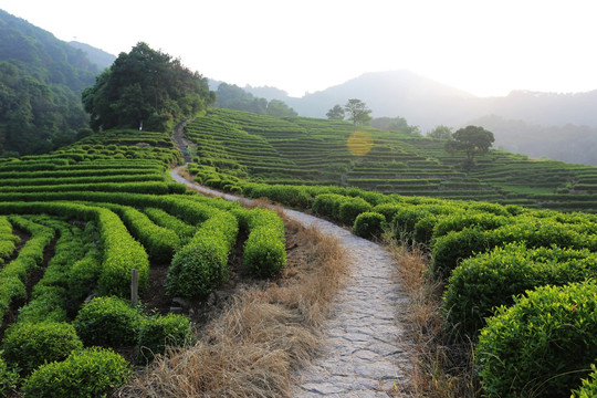
[(214, 109), (187, 126), (188, 170), (364, 238), (425, 244), (453, 338), (475, 343), (484, 396), (590, 396), (597, 168), (493, 150), (464, 171), (441, 140), (353, 134), (343, 122)]

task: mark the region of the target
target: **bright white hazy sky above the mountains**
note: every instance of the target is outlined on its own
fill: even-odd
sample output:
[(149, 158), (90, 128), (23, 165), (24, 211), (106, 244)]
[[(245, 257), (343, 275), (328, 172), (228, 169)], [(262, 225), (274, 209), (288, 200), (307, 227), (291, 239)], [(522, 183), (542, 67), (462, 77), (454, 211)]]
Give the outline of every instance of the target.
[(117, 55), (139, 41), (202, 75), (301, 96), (410, 70), (476, 95), (597, 90), (594, 0), (0, 0)]

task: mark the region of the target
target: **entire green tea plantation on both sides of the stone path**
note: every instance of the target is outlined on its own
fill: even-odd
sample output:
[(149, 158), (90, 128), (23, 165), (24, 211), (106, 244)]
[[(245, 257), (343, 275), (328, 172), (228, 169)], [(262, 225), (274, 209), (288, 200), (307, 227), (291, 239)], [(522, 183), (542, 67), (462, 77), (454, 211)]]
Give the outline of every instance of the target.
[[(463, 170), (441, 140), (229, 109), (186, 138), (198, 182), (423, 244), (485, 396), (597, 389), (597, 168), (493, 150)], [(192, 341), (187, 317), (130, 304), (133, 270), (143, 293), (167, 264), (166, 294), (199, 301), (235, 248), (256, 277), (284, 268), (282, 219), (172, 182), (181, 163), (167, 134), (138, 130), (0, 159), (0, 395), (102, 396), (167, 336)]]

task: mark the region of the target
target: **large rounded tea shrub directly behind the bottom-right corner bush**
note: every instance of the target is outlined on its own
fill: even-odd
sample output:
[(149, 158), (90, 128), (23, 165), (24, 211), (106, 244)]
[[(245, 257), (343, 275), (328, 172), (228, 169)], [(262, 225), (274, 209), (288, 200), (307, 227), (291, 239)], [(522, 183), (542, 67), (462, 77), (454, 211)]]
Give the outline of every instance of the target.
[(526, 290), (582, 282), (597, 274), (597, 254), (588, 250), (526, 249), (507, 243), (463, 260), (443, 293), (448, 323), (457, 333), (475, 338), (484, 318), (500, 305), (511, 305)]

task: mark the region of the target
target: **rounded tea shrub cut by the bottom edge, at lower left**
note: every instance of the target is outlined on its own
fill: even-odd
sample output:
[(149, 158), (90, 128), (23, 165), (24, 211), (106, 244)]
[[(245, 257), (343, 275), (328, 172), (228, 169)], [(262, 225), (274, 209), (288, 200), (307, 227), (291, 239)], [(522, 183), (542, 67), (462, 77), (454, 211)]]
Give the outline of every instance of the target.
[(121, 355), (92, 347), (39, 367), (22, 390), (31, 398), (107, 397), (129, 376), (130, 365)]

